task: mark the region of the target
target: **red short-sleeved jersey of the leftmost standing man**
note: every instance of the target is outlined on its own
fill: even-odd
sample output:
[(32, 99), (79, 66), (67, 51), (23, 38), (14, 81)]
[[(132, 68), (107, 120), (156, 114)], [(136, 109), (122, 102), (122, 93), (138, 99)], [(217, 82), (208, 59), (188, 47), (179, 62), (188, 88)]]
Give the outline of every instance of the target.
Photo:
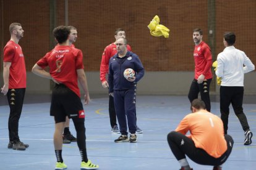
[(4, 62), (10, 62), (9, 89), (26, 87), (26, 67), (22, 48), (14, 41), (8, 41), (4, 47)]

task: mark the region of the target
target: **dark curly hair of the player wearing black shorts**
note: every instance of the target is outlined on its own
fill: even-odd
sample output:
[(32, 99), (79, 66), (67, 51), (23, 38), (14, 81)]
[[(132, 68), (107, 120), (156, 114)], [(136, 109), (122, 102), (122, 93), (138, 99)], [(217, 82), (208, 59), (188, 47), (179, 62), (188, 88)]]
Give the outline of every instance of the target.
[(70, 34), (70, 30), (68, 26), (63, 26), (63, 25), (57, 26), (53, 30), (53, 35), (57, 39), (59, 44), (61, 44), (62, 42), (65, 42), (69, 37), (69, 34)]

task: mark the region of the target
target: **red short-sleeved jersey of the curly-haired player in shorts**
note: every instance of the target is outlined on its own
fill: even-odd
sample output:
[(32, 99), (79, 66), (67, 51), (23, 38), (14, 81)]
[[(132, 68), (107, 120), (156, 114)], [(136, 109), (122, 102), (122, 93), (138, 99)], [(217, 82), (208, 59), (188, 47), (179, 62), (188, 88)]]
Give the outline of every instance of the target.
[(50, 75), (80, 97), (77, 70), (83, 69), (83, 54), (70, 46), (56, 46), (37, 62), (41, 68), (49, 66)]

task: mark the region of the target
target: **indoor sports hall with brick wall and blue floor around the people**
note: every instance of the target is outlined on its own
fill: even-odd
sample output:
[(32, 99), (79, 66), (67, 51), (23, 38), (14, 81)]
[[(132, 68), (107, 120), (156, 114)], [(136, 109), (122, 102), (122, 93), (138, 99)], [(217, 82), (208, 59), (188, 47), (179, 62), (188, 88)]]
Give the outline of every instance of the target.
[[(193, 30), (201, 28), (202, 40), (210, 47), (212, 62), (223, 52), (223, 34), (236, 33), (234, 46), (244, 51), (256, 64), (256, 1), (152, 1), (152, 0), (11, 0), (0, 1), (0, 86), (4, 86), (4, 47), (10, 40), (9, 25), (21, 23), (24, 30), (19, 45), (25, 59), (27, 87), (19, 119), (19, 137), (29, 144), (26, 150), (7, 148), (9, 143), (9, 103), (0, 94), (0, 169), (54, 169), (54, 118), (49, 116), (53, 81), (32, 73), (35, 63), (56, 46), (53, 29), (59, 25), (77, 28), (75, 48), (83, 53), (90, 102), (85, 111), (87, 155), (101, 170), (180, 169), (169, 148), (167, 135), (174, 131), (190, 111), (188, 99), (194, 79)], [(155, 36), (148, 25), (155, 16), (158, 25), (169, 29), (168, 36)], [(106, 46), (115, 41), (114, 31), (126, 30), (127, 44), (139, 55), (145, 75), (137, 83), (136, 116), (142, 134), (137, 142), (114, 142), (120, 134), (111, 132), (109, 92), (100, 80), (101, 57)], [(161, 27), (163, 28), (163, 27)], [(215, 70), (210, 83), (211, 113), (221, 116), (220, 85)], [(230, 105), (228, 134), (233, 137), (231, 155), (222, 169), (255, 169), (256, 167), (256, 73), (244, 75), (243, 108), (252, 144), (244, 145), (244, 131)], [(81, 100), (84, 102), (83, 91)], [(200, 95), (198, 95), (200, 98)], [(70, 132), (75, 127), (70, 120)], [(80, 169), (76, 142), (63, 144), (62, 158), (67, 169)], [(191, 168), (213, 169), (187, 158)]]

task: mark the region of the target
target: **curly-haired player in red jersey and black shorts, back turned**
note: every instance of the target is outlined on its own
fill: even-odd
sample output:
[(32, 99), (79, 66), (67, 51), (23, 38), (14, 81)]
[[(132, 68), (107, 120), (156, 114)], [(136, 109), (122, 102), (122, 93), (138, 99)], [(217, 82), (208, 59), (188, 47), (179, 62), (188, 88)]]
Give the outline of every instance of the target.
[[(67, 26), (58, 26), (53, 30), (54, 37), (59, 42), (59, 46), (48, 52), (32, 68), (32, 72), (38, 76), (49, 78), (56, 83), (52, 99), (50, 115), (54, 116), (54, 149), (57, 163), (55, 169), (66, 169), (66, 164), (62, 159), (62, 132), (65, 127), (66, 116), (73, 119), (75, 131), (77, 131), (77, 145), (82, 157), (81, 169), (98, 169), (98, 165), (93, 164), (87, 158), (85, 146), (85, 112), (80, 100), (80, 90), (78, 82), (85, 92), (85, 104), (90, 100), (87, 78), (83, 70), (83, 54), (79, 49), (70, 47)], [(49, 66), (49, 72), (45, 67)]]

